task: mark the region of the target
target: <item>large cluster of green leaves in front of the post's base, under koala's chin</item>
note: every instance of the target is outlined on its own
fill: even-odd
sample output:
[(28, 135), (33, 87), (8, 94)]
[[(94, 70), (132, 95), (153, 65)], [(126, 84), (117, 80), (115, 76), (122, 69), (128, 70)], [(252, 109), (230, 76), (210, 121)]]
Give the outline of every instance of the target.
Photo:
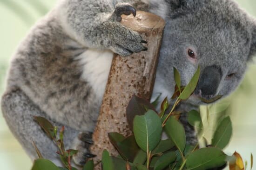
[[(198, 149), (197, 146), (186, 144), (184, 127), (176, 116), (170, 116), (165, 126), (162, 127), (165, 116), (161, 119), (154, 110), (148, 109), (151, 106), (150, 104), (146, 105), (146, 101), (143, 101), (143, 104), (135, 102), (141, 100), (134, 96), (127, 109), (129, 112), (133, 110), (132, 108), (144, 109), (144, 113), (136, 115), (133, 120), (134, 135), (124, 138), (119, 133), (109, 133), (110, 141), (123, 159), (122, 166), (119, 164), (117, 167), (130, 167), (131, 170), (206, 170), (226, 163), (227, 155), (220, 149), (229, 142), (224, 137), (226, 134), (223, 135), (227, 132), (226, 129), (217, 128), (211, 147)], [(200, 122), (202, 124), (198, 115), (200, 118), (199, 113), (191, 112), (189, 116), (191, 124), (200, 125)], [(200, 122), (197, 123), (197, 120)], [(225, 121), (226, 119), (220, 126), (228, 124), (230, 127), (231, 124), (225, 123)], [(130, 121), (128, 120), (128, 122)], [(131, 125), (131, 123), (129, 124)], [(169, 138), (161, 140), (162, 132), (166, 132)], [(116, 164), (115, 159), (112, 159), (114, 165)], [(103, 170), (105, 170), (104, 166)], [(114, 170), (116, 170), (115, 166)]]

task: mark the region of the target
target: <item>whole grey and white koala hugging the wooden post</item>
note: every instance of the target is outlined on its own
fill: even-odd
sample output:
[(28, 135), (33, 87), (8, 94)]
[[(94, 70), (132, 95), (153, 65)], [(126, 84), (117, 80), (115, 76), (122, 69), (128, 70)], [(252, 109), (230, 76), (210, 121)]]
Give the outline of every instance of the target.
[[(43, 157), (58, 162), (56, 146), (33, 116), (66, 127), (67, 147), (79, 150), (76, 164), (93, 156), (88, 146), (113, 52), (146, 50), (145, 41), (119, 23), (121, 14), (135, 14), (133, 6), (166, 21), (153, 96), (172, 96), (173, 67), (182, 85), (202, 68), (184, 110), (202, 104), (199, 97), (226, 96), (241, 82), (256, 53), (256, 22), (232, 0), (61, 0), (20, 44), (1, 100), (8, 126), (32, 159), (31, 138)], [(193, 130), (186, 130), (193, 142)]]

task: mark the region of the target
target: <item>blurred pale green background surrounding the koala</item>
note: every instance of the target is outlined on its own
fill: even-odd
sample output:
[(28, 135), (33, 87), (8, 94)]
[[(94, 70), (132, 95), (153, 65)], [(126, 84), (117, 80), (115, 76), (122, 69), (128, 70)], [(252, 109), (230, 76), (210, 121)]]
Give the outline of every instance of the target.
[[(0, 0), (0, 95), (5, 88), (5, 78), (11, 56), (22, 38), (34, 23), (50, 10), (57, 0)], [(236, 0), (242, 7), (256, 16), (256, 0)], [(210, 120), (216, 119), (216, 106), (229, 105), (228, 114), (233, 122), (233, 137), (226, 153), (239, 152), (250, 160), (256, 157), (256, 64), (251, 64), (241, 86), (229, 98), (210, 108)], [(202, 111), (206, 107), (201, 108)], [(203, 119), (205, 114), (202, 113)], [(211, 124), (211, 123), (210, 123)], [(212, 125), (211, 125), (212, 126)], [(211, 130), (207, 139), (210, 139)], [(0, 170), (29, 170), (32, 161), (10, 133), (0, 114)], [(255, 168), (256, 170), (256, 165)]]

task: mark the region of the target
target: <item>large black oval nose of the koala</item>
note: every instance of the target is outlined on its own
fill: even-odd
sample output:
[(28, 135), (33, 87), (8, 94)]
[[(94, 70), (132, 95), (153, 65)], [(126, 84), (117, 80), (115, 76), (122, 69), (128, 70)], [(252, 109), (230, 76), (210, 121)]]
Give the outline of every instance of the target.
[(216, 65), (204, 68), (195, 89), (195, 94), (206, 99), (214, 97), (221, 82), (221, 78), (222, 70)]

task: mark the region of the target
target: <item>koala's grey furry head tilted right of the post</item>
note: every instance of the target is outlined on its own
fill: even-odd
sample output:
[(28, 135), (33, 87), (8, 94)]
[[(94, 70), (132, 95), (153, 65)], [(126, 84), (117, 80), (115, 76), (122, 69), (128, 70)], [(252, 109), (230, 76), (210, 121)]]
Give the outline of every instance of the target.
[[(198, 65), (201, 76), (191, 104), (216, 95), (227, 96), (241, 82), (247, 63), (256, 54), (256, 22), (232, 0), (164, 0), (159, 14), (166, 21), (158, 76), (173, 88), (173, 68), (182, 85)], [(159, 6), (161, 7), (161, 6)], [(158, 8), (159, 10), (159, 8)]]

